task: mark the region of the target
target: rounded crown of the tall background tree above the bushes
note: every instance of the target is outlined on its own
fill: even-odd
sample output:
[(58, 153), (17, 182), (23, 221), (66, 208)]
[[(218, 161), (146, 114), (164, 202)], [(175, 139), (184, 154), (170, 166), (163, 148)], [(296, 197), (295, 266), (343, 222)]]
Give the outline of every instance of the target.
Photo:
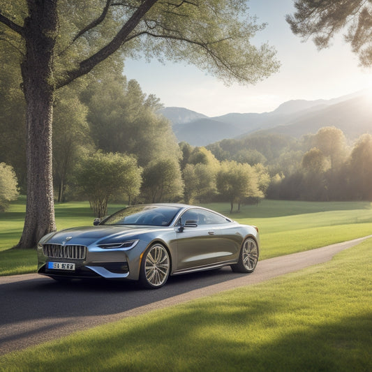
[(179, 157), (169, 121), (156, 114), (161, 108), (158, 98), (146, 96), (135, 80), (105, 73), (81, 96), (98, 149), (135, 154), (142, 167), (155, 158)]

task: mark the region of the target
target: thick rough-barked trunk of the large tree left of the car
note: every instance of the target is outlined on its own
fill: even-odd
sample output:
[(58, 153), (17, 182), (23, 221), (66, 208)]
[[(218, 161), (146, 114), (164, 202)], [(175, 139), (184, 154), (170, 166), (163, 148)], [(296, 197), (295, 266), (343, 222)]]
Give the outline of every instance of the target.
[(56, 230), (52, 180), (53, 49), (57, 0), (27, 1), (26, 56), (21, 65), (27, 103), (27, 205), (24, 229), (15, 248), (33, 248)]

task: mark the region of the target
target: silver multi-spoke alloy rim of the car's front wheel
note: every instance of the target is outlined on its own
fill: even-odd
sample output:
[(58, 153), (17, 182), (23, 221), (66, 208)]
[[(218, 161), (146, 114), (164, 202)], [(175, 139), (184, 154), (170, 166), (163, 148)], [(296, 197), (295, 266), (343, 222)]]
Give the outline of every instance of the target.
[(168, 278), (169, 267), (167, 250), (160, 245), (153, 246), (144, 265), (147, 281), (154, 286), (163, 285)]

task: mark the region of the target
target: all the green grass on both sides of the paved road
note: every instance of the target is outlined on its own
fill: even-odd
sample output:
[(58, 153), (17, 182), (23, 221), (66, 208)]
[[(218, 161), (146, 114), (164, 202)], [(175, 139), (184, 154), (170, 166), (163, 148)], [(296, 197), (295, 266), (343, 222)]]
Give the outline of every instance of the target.
[[(0, 214), (3, 275), (36, 269), (35, 251), (9, 250), (23, 216), (24, 200)], [(261, 259), (372, 233), (369, 202), (264, 200), (231, 217), (259, 226)], [(56, 206), (59, 229), (93, 218), (86, 202)], [(369, 239), (323, 265), (4, 355), (0, 371), (371, 371), (371, 245)]]

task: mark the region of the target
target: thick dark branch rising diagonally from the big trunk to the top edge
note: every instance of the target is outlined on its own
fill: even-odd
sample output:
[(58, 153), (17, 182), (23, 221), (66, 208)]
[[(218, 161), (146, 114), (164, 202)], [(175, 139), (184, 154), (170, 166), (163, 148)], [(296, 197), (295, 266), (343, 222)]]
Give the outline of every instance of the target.
[(157, 1), (158, 0), (144, 0), (142, 4), (137, 8), (137, 10), (135, 10), (133, 15), (129, 18), (129, 20), (120, 29), (117, 35), (114, 36), (114, 38), (110, 41), (110, 43), (96, 52), (96, 54), (80, 62), (80, 66), (75, 70), (68, 71), (67, 77), (57, 82), (57, 89), (64, 87), (73, 80), (77, 79), (77, 77), (89, 73), (89, 71), (94, 68), (94, 66), (97, 66), (107, 57), (110, 57), (110, 55), (116, 52), (119, 47), (121, 47), (121, 45), (123, 45), (123, 43), (126, 41), (126, 38), (129, 36), (129, 34), (131, 34), (133, 29), (137, 27), (137, 24), (140, 23), (142, 17), (144, 17), (144, 15), (151, 9), (152, 6), (154, 6)]

